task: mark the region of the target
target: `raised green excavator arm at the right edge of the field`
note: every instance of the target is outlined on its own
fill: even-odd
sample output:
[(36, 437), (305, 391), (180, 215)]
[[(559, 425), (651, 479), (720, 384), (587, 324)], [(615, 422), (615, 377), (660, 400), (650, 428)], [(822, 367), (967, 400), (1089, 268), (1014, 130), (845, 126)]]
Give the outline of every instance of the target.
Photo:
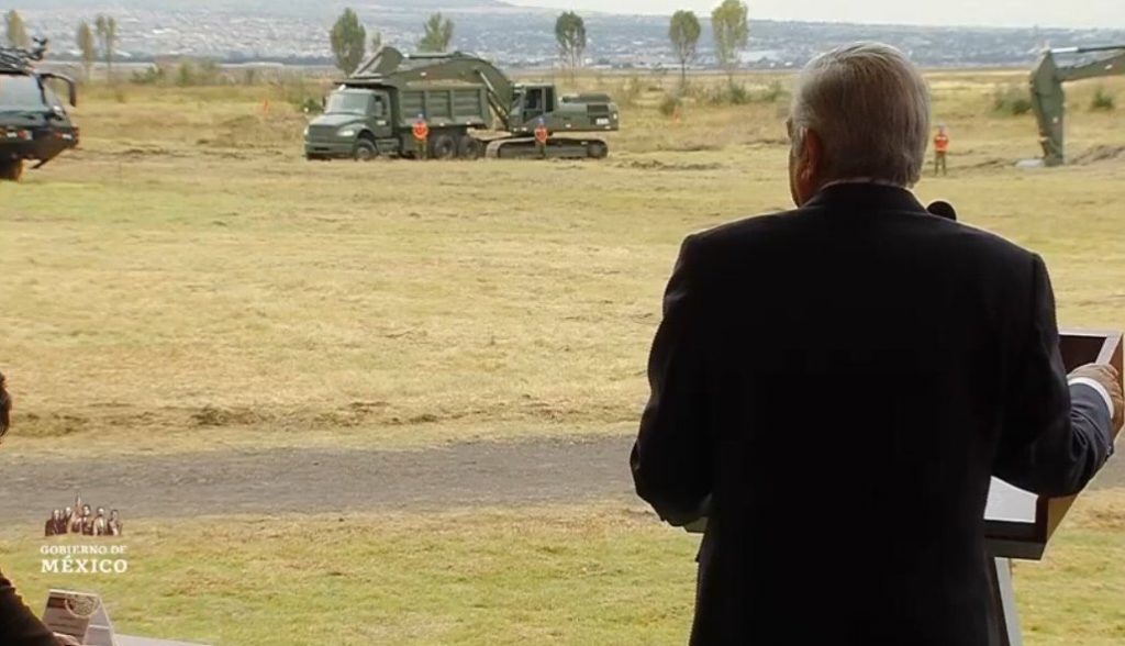
[[(1108, 55), (1102, 55), (1107, 54)], [(1060, 65), (1059, 55), (1095, 54), (1092, 61)], [(1047, 50), (1032, 72), (1032, 107), (1040, 122), (1040, 143), (1043, 163), (1058, 167), (1066, 163), (1063, 117), (1066, 113), (1066, 93), (1063, 83), (1125, 74), (1125, 45), (1098, 47), (1068, 47)]]

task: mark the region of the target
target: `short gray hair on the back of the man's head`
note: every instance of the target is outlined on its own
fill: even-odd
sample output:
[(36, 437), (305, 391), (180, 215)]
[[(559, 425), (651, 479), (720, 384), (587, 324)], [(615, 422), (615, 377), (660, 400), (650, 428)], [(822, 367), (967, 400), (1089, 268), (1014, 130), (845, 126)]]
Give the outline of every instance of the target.
[(827, 180), (871, 178), (910, 187), (929, 142), (929, 90), (902, 52), (856, 43), (810, 62), (793, 92), (791, 127), (824, 142)]

